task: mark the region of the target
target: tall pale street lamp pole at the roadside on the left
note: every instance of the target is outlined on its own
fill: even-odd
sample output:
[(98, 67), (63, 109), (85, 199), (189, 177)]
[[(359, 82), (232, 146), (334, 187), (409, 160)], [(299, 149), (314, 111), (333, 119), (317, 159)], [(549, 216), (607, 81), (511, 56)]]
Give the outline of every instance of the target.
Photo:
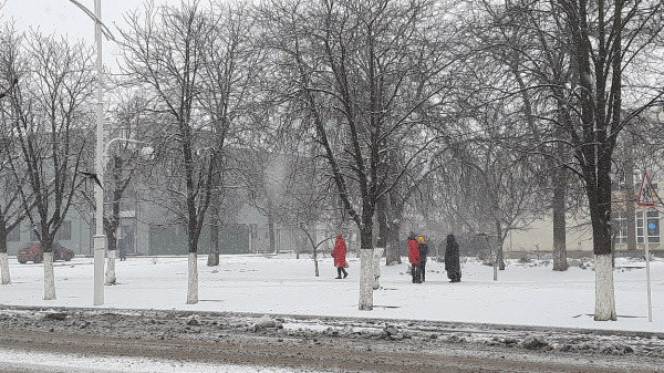
[(94, 37), (97, 50), (97, 102), (96, 102), (96, 156), (95, 156), (95, 169), (98, 185), (94, 187), (95, 197), (95, 235), (94, 241), (94, 305), (104, 304), (104, 248), (106, 236), (104, 235), (104, 170), (103, 170), (103, 157), (104, 157), (104, 102), (102, 94), (102, 33), (108, 40), (115, 40), (108, 28), (102, 22), (102, 0), (94, 0), (94, 13), (90, 9), (85, 8), (76, 0), (70, 0), (76, 7), (81, 8), (87, 17), (94, 21)]

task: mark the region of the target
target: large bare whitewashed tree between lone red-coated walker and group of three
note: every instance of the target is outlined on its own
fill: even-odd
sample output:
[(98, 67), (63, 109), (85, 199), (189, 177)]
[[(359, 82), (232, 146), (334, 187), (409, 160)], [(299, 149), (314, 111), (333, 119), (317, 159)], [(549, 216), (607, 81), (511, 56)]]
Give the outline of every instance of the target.
[(425, 86), (414, 95), (411, 85), (421, 28), (437, 11), (430, 1), (273, 1), (263, 12), (277, 74), (292, 82), (279, 92), (301, 107), (302, 133), (319, 144), (360, 230), (360, 310), (373, 309), (376, 204), (398, 178), (381, 174), (382, 152), (440, 90)]

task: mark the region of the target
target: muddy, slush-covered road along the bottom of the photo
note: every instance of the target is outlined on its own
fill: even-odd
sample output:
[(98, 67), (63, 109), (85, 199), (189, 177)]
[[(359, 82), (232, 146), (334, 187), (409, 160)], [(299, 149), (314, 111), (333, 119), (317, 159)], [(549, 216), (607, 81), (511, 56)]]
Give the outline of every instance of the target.
[(652, 333), (0, 307), (2, 372), (664, 372), (663, 348)]

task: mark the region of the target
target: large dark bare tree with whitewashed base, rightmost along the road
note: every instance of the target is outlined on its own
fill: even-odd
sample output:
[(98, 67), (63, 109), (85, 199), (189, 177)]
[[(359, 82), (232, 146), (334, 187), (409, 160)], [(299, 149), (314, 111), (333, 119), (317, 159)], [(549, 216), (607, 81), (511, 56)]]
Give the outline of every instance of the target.
[[(660, 45), (663, 4), (582, 0), (513, 6), (509, 11), (528, 21), (522, 30), (537, 30), (529, 49), (515, 50), (522, 53), (520, 71), (533, 75), (520, 90), (537, 90), (551, 100), (553, 114), (540, 114), (560, 131), (544, 141), (568, 145), (568, 157), (552, 158), (577, 175), (585, 190), (595, 255), (595, 320), (615, 320), (610, 175), (622, 129), (662, 96), (661, 87), (643, 83), (656, 76), (643, 77), (643, 66)], [(630, 110), (623, 105), (627, 93), (637, 93)]]

